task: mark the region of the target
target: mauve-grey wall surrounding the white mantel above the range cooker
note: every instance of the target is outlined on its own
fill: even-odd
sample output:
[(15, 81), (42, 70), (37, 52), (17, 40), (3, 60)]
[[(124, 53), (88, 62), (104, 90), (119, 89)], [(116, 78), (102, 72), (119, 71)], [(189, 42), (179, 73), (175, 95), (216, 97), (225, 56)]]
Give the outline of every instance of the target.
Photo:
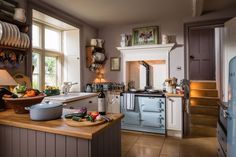
[[(183, 47), (183, 22), (181, 19), (168, 19), (153, 23), (146, 23), (140, 25), (128, 25), (128, 26), (108, 26), (99, 29), (99, 38), (105, 39), (105, 50), (108, 57), (120, 56), (120, 52), (116, 47), (120, 46), (120, 34), (132, 33), (132, 28), (156, 25), (160, 28), (161, 34), (168, 34), (176, 36), (178, 47), (170, 52), (170, 76), (175, 76), (178, 79), (184, 78), (184, 47)], [(182, 70), (176, 70), (178, 66), (182, 67)], [(111, 72), (109, 70), (110, 61), (108, 60), (105, 66), (105, 78), (108, 81), (122, 81), (122, 69), (120, 72)]]

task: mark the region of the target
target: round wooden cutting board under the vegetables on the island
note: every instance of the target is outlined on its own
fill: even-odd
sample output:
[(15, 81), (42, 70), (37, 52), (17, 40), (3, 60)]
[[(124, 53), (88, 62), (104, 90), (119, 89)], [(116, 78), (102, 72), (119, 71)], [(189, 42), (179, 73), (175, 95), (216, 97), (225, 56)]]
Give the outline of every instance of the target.
[(90, 121), (87, 121), (86, 119), (82, 119), (81, 122), (77, 122), (72, 119), (65, 119), (65, 118), (64, 118), (64, 121), (67, 125), (73, 126), (73, 127), (95, 126), (95, 125), (100, 125), (106, 122), (104, 119), (101, 121), (95, 121), (95, 122), (90, 122)]

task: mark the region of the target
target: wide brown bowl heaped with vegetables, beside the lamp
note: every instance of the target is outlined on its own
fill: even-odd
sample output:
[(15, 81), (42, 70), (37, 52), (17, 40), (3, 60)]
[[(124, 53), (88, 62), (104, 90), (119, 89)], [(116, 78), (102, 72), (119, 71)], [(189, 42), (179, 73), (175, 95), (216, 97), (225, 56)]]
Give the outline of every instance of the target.
[(29, 113), (29, 111), (25, 110), (25, 107), (38, 104), (42, 102), (43, 98), (44, 95), (27, 98), (3, 98), (3, 100), (5, 100), (6, 105), (12, 106), (15, 113), (24, 114)]

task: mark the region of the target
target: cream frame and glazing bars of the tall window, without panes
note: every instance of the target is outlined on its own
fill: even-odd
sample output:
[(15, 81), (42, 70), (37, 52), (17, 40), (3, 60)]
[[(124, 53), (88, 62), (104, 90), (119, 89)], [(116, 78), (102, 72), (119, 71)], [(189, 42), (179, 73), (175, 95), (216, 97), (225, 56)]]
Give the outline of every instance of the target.
[[(36, 25), (39, 27), (39, 45), (40, 47), (34, 47), (32, 45), (32, 53), (38, 53), (39, 54), (39, 90), (43, 90), (45, 88), (45, 57), (57, 57), (57, 75), (56, 75), (56, 81), (57, 81), (57, 86), (60, 85), (62, 82), (62, 70), (63, 70), (63, 44), (62, 44), (62, 39), (63, 39), (63, 30), (60, 30), (58, 28), (54, 28), (52, 26), (47, 25), (46, 23), (41, 23), (38, 21), (33, 20), (33, 25)], [(59, 51), (56, 50), (50, 50), (45, 48), (45, 29), (51, 29), (54, 31), (57, 31), (60, 33), (59, 35)], [(32, 74), (33, 75), (33, 74)], [(41, 80), (41, 81), (40, 81)]]

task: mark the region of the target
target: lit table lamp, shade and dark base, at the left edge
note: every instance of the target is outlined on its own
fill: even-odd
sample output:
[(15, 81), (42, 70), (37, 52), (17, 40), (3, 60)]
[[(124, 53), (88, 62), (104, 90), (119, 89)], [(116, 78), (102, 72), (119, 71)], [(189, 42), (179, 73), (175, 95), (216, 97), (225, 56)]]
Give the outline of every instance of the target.
[(5, 86), (16, 86), (16, 81), (5, 69), (0, 69), (0, 111), (5, 110), (5, 102), (2, 100), (3, 95), (12, 93), (8, 91)]

